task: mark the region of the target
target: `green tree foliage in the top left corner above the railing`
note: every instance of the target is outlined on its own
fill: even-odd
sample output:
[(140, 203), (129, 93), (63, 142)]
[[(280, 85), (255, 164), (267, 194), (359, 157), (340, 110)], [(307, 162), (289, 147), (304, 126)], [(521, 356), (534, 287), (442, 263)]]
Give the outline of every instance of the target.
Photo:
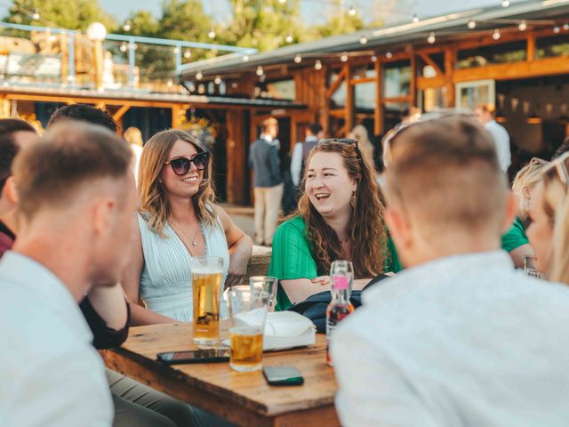
[[(39, 20), (33, 19), (33, 12), (39, 14)], [(108, 32), (116, 28), (116, 21), (100, 9), (98, 0), (14, 0), (4, 21), (81, 30), (100, 22)]]

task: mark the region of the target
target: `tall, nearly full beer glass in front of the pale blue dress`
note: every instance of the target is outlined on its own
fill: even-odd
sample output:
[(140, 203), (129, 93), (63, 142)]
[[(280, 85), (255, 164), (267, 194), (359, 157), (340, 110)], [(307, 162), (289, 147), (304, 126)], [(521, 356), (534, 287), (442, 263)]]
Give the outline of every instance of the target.
[(220, 341), (220, 298), (223, 259), (218, 256), (191, 258), (194, 292), (194, 342), (198, 345)]

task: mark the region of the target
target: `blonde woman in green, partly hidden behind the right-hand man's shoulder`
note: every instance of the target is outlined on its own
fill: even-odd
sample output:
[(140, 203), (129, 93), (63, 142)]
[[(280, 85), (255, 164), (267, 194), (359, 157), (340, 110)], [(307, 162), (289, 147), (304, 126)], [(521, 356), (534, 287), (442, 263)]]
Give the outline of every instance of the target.
[(533, 247), (525, 235), (527, 209), (535, 192), (535, 186), (541, 181), (541, 170), (547, 164), (546, 160), (533, 157), (519, 170), (512, 183), (512, 191), (517, 199), (517, 217), (511, 229), (501, 237), (501, 247), (509, 253), (518, 268), (524, 267), (526, 256), (533, 256)]

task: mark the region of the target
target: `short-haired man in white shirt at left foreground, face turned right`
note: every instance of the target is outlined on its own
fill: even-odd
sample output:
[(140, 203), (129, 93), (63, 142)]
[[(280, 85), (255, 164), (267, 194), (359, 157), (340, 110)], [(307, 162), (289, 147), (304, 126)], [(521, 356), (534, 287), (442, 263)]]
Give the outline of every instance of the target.
[(108, 426), (103, 363), (78, 302), (114, 286), (137, 197), (125, 141), (55, 125), (13, 164), (20, 229), (0, 261), (0, 425)]

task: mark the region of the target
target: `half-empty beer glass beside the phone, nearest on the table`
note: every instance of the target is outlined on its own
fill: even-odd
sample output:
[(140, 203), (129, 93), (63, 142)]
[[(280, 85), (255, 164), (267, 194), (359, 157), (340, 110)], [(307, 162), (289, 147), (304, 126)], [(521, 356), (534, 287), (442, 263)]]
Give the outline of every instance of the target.
[(229, 366), (239, 372), (257, 371), (263, 355), (263, 330), (269, 294), (256, 288), (229, 290)]

